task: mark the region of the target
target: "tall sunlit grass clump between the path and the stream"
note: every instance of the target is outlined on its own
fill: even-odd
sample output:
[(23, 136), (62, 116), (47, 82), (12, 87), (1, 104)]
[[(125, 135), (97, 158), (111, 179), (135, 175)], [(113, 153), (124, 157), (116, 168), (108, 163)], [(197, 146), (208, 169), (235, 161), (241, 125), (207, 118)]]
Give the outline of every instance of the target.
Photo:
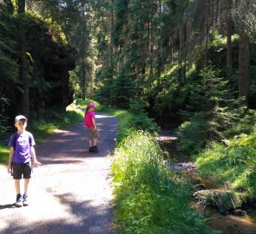
[(189, 205), (186, 179), (164, 165), (161, 148), (149, 133), (130, 130), (115, 149), (112, 172), (120, 233), (211, 233)]

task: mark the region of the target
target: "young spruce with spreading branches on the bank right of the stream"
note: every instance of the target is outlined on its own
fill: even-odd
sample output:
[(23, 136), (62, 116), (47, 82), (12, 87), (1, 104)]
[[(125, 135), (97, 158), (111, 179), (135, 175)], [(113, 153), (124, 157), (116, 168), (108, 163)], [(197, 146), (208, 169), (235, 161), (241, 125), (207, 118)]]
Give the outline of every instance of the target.
[(213, 65), (200, 71), (200, 81), (190, 95), (195, 113), (178, 128), (179, 146), (184, 151), (191, 153), (207, 141), (224, 140), (223, 132), (239, 121), (242, 109), (233, 99), (228, 81), (219, 75), (220, 70)]

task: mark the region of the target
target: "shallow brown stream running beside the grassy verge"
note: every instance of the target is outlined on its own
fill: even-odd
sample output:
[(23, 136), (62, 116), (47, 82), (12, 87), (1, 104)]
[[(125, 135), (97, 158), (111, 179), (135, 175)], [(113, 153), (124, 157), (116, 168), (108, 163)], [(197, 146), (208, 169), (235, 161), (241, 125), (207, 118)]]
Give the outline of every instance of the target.
[[(190, 170), (194, 170), (194, 164), (191, 162), (189, 155), (179, 151), (176, 146), (177, 139), (172, 137), (171, 131), (162, 131), (157, 140), (163, 152), (166, 152), (165, 159), (169, 159), (170, 156), (168, 155), (172, 155), (175, 166), (188, 165)], [(216, 188), (210, 181), (201, 181), (201, 183), (206, 185), (206, 189)], [(246, 211), (246, 215), (237, 216), (233, 214), (222, 215), (216, 208), (209, 206), (203, 211), (203, 207), (196, 205), (194, 201), (192, 204), (207, 218), (206, 224), (213, 230), (222, 231), (223, 234), (256, 234), (256, 207), (241, 207), (241, 210)]]

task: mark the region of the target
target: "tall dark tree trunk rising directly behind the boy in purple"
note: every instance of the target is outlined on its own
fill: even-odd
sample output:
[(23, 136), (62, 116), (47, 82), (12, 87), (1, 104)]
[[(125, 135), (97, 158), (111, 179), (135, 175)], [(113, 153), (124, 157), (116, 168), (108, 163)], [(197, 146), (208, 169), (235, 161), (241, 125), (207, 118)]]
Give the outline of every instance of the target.
[(23, 81), (22, 95), (22, 113), (30, 118), (30, 89), (29, 89), (29, 70), (27, 53), (26, 29), (24, 27), (23, 15), (25, 14), (25, 1), (18, 0), (18, 16), (19, 16), (19, 63), (20, 63), (20, 78)]

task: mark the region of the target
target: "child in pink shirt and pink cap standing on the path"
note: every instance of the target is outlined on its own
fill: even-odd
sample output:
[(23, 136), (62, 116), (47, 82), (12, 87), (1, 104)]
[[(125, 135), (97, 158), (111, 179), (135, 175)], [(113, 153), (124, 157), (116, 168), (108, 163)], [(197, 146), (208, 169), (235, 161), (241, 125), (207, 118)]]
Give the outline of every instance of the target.
[(95, 121), (95, 110), (97, 107), (94, 103), (89, 103), (86, 108), (84, 115), (84, 125), (88, 127), (89, 132), (89, 152), (98, 153), (97, 141), (98, 141), (98, 130)]

